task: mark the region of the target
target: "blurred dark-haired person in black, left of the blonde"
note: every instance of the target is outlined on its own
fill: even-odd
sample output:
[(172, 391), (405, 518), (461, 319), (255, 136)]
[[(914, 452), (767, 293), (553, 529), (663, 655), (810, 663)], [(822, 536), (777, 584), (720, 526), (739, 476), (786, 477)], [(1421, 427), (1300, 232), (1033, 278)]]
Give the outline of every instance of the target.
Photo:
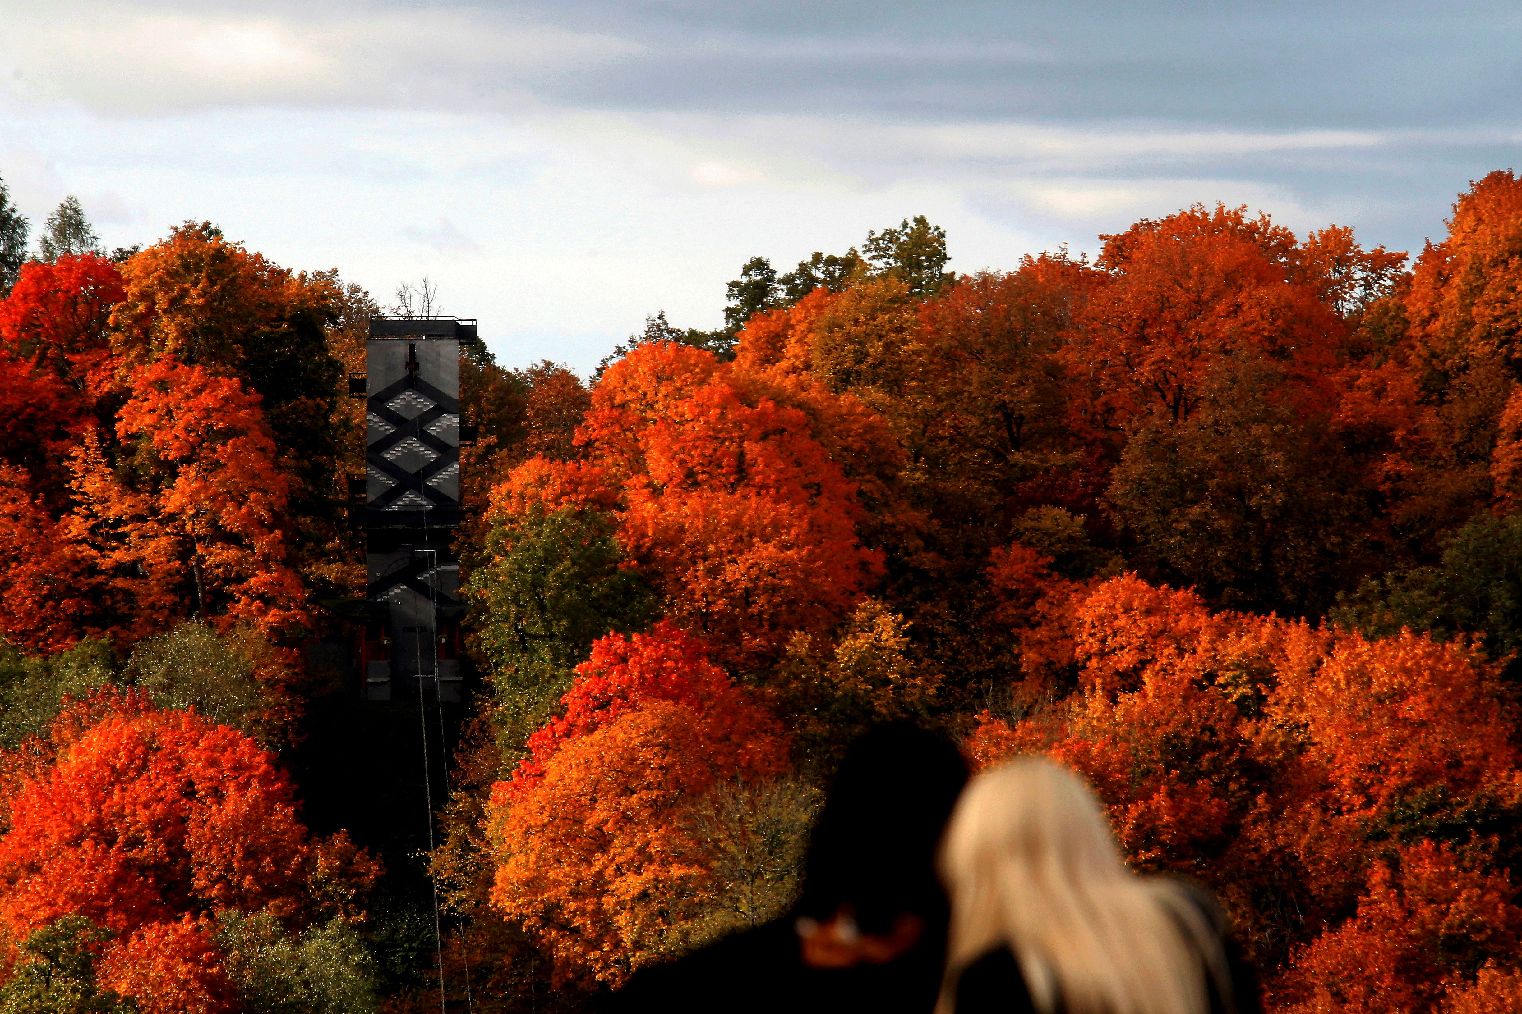
[(869, 730), (825, 795), (793, 909), (636, 973), (610, 1009), (930, 1014), (950, 918), (936, 850), (966, 777), (938, 733)]

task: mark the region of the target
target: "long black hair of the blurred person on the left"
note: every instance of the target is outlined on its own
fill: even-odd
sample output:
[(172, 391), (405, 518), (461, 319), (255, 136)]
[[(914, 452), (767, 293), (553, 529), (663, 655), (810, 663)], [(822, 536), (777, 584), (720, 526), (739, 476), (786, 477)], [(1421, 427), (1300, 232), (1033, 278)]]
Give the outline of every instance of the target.
[(866, 933), (903, 912), (944, 921), (936, 847), (963, 784), (966, 763), (939, 733), (890, 722), (860, 736), (814, 825), (798, 914), (828, 920), (849, 903)]

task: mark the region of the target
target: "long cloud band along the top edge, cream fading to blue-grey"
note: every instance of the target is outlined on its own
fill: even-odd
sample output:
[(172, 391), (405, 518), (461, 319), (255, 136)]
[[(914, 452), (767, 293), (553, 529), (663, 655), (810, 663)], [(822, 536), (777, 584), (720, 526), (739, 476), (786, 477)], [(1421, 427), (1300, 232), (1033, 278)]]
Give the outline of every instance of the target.
[[(0, 0), (27, 100), (622, 109), (1160, 129), (1516, 122), (1522, 8)], [(0, 74), (5, 78), (5, 74)]]

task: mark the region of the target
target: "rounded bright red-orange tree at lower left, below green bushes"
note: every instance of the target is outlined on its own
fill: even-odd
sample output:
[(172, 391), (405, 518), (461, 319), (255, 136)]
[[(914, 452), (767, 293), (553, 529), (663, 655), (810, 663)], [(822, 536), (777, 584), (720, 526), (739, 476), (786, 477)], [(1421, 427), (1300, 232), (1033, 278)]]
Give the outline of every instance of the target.
[(286, 775), (248, 736), (103, 698), (65, 713), (55, 737), (56, 760), (9, 794), (0, 923), (12, 936), (68, 914), (132, 933), (221, 908), (298, 911), (306, 832)]

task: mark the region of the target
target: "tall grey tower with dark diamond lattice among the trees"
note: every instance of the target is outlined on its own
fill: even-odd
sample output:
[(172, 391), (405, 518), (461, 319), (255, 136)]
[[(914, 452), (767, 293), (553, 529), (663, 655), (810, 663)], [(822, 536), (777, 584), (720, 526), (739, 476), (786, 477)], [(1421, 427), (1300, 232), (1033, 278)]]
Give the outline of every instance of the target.
[(460, 699), (460, 341), (475, 321), (371, 318), (365, 344), (364, 695)]

